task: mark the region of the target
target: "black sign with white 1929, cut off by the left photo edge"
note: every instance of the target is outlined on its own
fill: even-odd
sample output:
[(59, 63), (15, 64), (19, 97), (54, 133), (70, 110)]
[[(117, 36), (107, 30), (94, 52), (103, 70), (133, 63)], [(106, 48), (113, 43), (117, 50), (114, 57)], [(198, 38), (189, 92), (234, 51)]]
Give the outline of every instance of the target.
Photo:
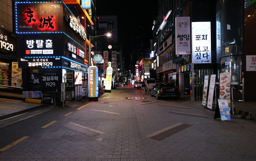
[(0, 52), (16, 55), (18, 43), (16, 34), (0, 28)]

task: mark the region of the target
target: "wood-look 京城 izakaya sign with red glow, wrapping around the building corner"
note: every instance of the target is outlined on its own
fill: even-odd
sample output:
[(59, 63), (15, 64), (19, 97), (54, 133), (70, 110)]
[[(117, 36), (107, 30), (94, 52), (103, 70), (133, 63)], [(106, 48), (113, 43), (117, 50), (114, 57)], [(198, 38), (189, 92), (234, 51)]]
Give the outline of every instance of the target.
[[(16, 2), (16, 33), (66, 32), (72, 28), (86, 41), (84, 27), (64, 6), (63, 2), (22, 3)], [(65, 25), (68, 21), (68, 26)], [(70, 35), (73, 36), (73, 35)]]

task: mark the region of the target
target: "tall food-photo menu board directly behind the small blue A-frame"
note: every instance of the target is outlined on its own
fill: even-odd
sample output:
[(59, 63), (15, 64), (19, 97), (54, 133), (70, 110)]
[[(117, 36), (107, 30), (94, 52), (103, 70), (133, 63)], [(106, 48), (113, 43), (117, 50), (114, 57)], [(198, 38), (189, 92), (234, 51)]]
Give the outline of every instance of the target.
[(230, 107), (230, 73), (220, 73), (220, 99), (227, 99)]

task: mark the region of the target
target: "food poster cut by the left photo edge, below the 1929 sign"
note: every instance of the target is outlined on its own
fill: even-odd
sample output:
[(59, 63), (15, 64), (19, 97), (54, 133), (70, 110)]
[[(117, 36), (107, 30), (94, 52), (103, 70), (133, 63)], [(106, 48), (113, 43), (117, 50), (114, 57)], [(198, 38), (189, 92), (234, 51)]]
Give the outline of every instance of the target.
[(10, 86), (11, 75), (9, 75), (9, 63), (0, 63), (0, 71), (0, 85)]

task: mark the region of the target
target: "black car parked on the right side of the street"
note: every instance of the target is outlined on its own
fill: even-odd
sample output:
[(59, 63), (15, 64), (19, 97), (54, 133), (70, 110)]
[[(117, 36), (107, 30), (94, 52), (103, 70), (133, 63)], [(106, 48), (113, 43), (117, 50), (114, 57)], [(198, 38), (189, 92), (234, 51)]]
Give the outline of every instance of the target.
[(156, 83), (151, 89), (151, 96), (156, 96), (156, 99), (158, 100), (165, 97), (179, 99), (180, 90), (174, 83)]

